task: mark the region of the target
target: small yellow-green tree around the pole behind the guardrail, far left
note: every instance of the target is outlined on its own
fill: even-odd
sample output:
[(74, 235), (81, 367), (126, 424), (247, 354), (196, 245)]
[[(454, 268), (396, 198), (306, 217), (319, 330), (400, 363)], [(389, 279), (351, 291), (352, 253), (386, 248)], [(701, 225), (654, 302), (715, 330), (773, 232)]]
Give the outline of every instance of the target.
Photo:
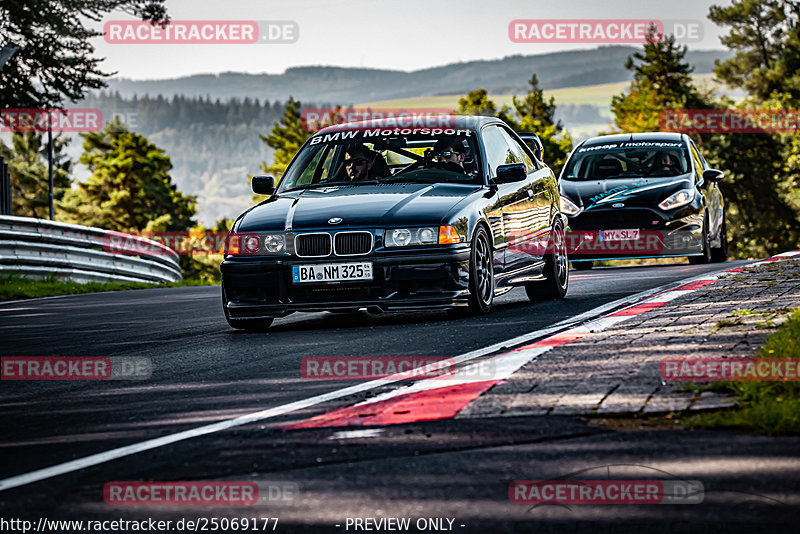
[[(72, 183), (72, 161), (64, 154), (69, 139), (60, 135), (53, 139), (53, 198), (61, 200)], [(0, 156), (8, 164), (14, 215), (18, 217), (50, 216), (50, 178), (47, 170), (47, 146), (42, 134), (19, 132), (11, 137), (11, 146), (0, 140)]]

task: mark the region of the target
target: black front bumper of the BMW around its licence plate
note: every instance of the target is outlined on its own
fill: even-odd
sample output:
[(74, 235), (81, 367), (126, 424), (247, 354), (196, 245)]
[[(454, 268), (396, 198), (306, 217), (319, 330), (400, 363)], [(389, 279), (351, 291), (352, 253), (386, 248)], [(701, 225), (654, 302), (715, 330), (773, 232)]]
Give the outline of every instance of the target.
[[(469, 248), (397, 251), (358, 258), (234, 257), (222, 262), (225, 313), (234, 319), (283, 317), (296, 311), (372, 312), (448, 309), (467, 305)], [(292, 282), (293, 265), (369, 261), (373, 279)]]

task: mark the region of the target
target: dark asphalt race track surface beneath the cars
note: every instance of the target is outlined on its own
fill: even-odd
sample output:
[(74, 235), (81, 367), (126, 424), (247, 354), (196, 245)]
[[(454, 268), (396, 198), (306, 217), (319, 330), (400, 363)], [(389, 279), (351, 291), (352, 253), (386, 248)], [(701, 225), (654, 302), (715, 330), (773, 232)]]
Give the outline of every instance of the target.
[[(731, 497), (736, 494), (731, 484), (752, 475), (746, 465), (724, 481), (717, 497), (709, 493), (703, 505), (629, 507), (639, 510), (625, 515), (617, 513), (624, 506), (593, 507), (574, 512), (582, 514), (583, 523), (565, 519), (573, 512), (560, 507), (532, 515), (525, 506), (509, 503), (508, 482), (555, 477), (588, 464), (643, 464), (670, 457), (684, 462), (695, 454), (729, 453), (763, 455), (764, 472), (779, 476), (780, 439), (719, 440), (712, 433), (692, 432), (676, 441), (670, 431), (617, 433), (569, 417), (457, 419), (361, 434), (277, 429), (352, 404), (374, 390), (298, 403), (299, 409), (274, 417), (2, 489), (3, 481), (19, 475), (354, 385), (302, 379), (305, 357), (457, 356), (502, 345), (616, 299), (744, 263), (573, 270), (567, 298), (559, 302), (531, 304), (523, 290), (515, 289), (496, 301), (489, 316), (295, 314), (276, 320), (269, 333), (230, 329), (219, 287), (0, 304), (3, 356), (145, 357), (153, 368), (152, 377), (142, 381), (2, 382), (0, 512), (58, 519), (277, 516), (277, 532), (352, 532), (352, 526), (346, 528), (348, 517), (387, 516), (451, 518), (452, 525), (445, 521), (440, 530), (456, 532), (562, 532), (572, 531), (566, 525), (582, 524), (587, 532), (602, 527), (658, 532), (657, 525), (679, 532), (676, 524), (697, 526), (698, 518), (710, 525), (710, 532), (728, 522), (758, 532), (764, 514), (772, 519), (781, 515), (770, 508), (754, 511), (752, 499), (742, 507), (741, 498)], [(531, 472), (536, 462), (540, 467)], [(103, 486), (118, 480), (277, 481), (298, 490), (286, 502), (255, 508), (113, 507), (103, 502)]]

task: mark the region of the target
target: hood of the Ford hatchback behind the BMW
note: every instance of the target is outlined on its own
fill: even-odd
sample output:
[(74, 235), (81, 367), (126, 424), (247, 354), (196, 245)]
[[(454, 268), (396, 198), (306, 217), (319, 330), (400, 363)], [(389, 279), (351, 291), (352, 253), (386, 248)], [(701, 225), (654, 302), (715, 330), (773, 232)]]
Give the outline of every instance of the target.
[(692, 175), (612, 180), (561, 180), (561, 194), (584, 211), (624, 206), (654, 207), (680, 189), (692, 187)]

